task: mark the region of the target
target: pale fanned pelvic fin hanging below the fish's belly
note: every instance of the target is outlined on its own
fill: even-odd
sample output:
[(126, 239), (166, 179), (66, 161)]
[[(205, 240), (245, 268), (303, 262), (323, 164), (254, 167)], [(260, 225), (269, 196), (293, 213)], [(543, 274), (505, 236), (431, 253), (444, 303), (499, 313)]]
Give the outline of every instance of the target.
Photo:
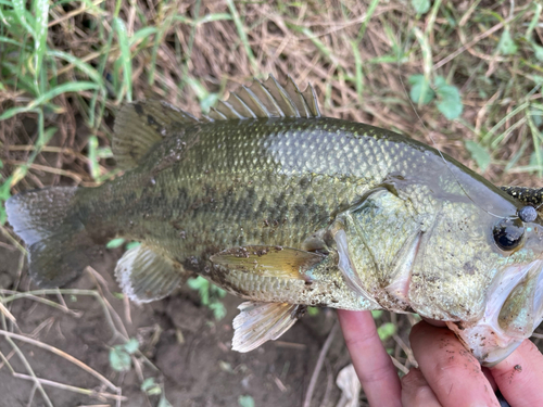
[(274, 341), (289, 330), (305, 314), (306, 306), (285, 303), (242, 303), (233, 318), (232, 349), (252, 351), (264, 342)]

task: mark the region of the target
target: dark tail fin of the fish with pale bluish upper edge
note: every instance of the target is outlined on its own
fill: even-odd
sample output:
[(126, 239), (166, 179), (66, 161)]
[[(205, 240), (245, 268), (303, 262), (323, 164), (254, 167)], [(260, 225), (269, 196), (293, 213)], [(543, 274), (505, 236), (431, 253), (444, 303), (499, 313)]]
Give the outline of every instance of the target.
[(29, 275), (41, 288), (77, 278), (98, 246), (74, 207), (75, 187), (50, 187), (14, 195), (5, 202), (8, 221), (26, 243)]

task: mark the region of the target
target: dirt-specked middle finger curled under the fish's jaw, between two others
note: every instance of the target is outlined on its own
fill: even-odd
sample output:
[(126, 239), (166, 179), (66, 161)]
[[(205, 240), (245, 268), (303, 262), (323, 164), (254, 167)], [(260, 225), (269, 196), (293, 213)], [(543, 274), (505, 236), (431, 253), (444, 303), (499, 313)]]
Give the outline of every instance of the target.
[(413, 327), (409, 340), (419, 369), (444, 407), (498, 406), (481, 365), (453, 332), (422, 321)]

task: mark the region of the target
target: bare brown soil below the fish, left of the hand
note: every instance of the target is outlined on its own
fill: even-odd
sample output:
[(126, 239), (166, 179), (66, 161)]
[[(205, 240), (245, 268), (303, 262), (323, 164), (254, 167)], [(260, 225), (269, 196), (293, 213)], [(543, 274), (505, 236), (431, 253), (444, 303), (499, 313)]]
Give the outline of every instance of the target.
[[(93, 265), (112, 292), (119, 291), (111, 272), (119, 255), (119, 251), (108, 251)], [(13, 270), (17, 269), (20, 257), (18, 251), (0, 247), (0, 287), (10, 288), (16, 281)], [(18, 291), (33, 289), (29, 284), (26, 274), (22, 272)], [(89, 271), (71, 288), (96, 290), (97, 280)], [(240, 354), (230, 349), (231, 321), (237, 315), (239, 298), (226, 296), (227, 316), (215, 321), (212, 311), (201, 306), (198, 293), (187, 287), (163, 301), (142, 306), (126, 307), (112, 293), (104, 291), (103, 295), (157, 371), (141, 363), (138, 363), (141, 374), (136, 368), (126, 373), (112, 369), (109, 349), (121, 341), (112, 338), (105, 313), (93, 296), (64, 295), (73, 311), (70, 314), (33, 300), (16, 300), (10, 310), (17, 319), (20, 331), (13, 331), (35, 332), (33, 338), (37, 341), (55, 346), (100, 372), (122, 387), (122, 395), (127, 397), (122, 405), (130, 407), (159, 405), (159, 396), (148, 396), (140, 390), (141, 379), (149, 377), (164, 383), (166, 398), (173, 406), (238, 406), (243, 395), (252, 396), (255, 406), (301, 406), (320, 348), (336, 321), (334, 311), (323, 309), (317, 316), (303, 318), (280, 341)], [(56, 295), (46, 297), (59, 302)], [(15, 342), (38, 378), (109, 391), (65, 357)], [(15, 371), (27, 373), (7, 341), (0, 341), (0, 351)], [(334, 384), (336, 377), (349, 363), (343, 339), (338, 333), (319, 374), (312, 406), (337, 405), (340, 390)], [(0, 406), (46, 406), (39, 391), (33, 390), (31, 381), (13, 377), (5, 365), (0, 366)], [(43, 387), (54, 406), (115, 406), (114, 400), (100, 400), (56, 386)]]

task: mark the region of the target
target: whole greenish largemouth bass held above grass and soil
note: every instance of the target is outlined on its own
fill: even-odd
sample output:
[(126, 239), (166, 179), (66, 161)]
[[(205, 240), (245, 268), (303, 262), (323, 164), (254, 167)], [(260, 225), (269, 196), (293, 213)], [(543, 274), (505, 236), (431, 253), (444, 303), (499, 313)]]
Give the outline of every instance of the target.
[(543, 319), (541, 191), (502, 190), (425, 143), (326, 117), (311, 85), (255, 79), (201, 117), (128, 103), (112, 151), (113, 180), (7, 201), (39, 287), (70, 283), (122, 237), (141, 242), (114, 271), (132, 302), (197, 275), (247, 300), (239, 352), (307, 306), (387, 309), (445, 321), (492, 366)]

